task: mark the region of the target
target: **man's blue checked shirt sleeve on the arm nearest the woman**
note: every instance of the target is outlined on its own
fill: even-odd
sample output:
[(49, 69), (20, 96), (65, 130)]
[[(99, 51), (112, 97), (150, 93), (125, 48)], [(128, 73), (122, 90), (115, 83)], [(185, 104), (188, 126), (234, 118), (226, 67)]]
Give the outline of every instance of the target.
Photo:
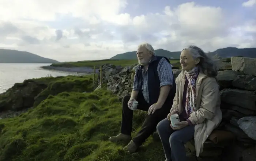
[(160, 88), (164, 85), (172, 86), (173, 84), (172, 66), (165, 58), (162, 58), (159, 61), (157, 71), (158, 71), (158, 76), (160, 80)]

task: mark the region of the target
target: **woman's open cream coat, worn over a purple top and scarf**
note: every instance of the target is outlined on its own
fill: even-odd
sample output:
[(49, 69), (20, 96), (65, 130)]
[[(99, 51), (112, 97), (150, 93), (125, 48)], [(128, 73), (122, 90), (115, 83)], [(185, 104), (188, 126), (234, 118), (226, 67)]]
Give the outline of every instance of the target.
[[(176, 94), (173, 99), (171, 112), (174, 110), (182, 113), (182, 95), (185, 84), (185, 71), (176, 78)], [(208, 77), (200, 72), (196, 80), (196, 111), (189, 119), (195, 125), (195, 150), (196, 156), (203, 152), (203, 143), (211, 132), (221, 123), (222, 112), (219, 85), (215, 78)]]

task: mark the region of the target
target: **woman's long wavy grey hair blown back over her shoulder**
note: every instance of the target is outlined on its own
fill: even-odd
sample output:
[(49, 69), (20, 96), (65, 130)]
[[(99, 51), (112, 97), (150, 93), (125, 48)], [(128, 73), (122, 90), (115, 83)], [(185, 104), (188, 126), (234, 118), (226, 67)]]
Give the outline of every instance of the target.
[(218, 75), (217, 64), (209, 57), (202, 49), (197, 46), (191, 45), (183, 50), (189, 50), (194, 59), (200, 58), (197, 65), (203, 70), (204, 74), (209, 77), (216, 77)]

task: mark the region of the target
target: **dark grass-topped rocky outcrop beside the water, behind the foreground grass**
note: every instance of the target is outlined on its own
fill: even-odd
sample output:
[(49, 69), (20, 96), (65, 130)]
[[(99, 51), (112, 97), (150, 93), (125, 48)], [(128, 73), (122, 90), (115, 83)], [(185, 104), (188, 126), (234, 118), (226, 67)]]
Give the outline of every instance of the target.
[[(90, 92), (92, 79), (86, 76), (45, 77), (16, 83), (0, 95), (0, 117), (10, 118), (31, 107), (36, 107), (49, 95), (61, 92)], [(12, 112), (16, 111), (16, 112)]]

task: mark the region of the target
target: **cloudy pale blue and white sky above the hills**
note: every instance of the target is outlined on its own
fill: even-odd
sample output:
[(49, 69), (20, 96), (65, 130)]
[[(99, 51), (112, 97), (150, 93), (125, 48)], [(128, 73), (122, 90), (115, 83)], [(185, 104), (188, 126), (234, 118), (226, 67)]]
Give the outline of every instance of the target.
[(256, 0), (0, 0), (0, 48), (79, 61), (142, 42), (169, 51), (256, 47), (255, 10)]

